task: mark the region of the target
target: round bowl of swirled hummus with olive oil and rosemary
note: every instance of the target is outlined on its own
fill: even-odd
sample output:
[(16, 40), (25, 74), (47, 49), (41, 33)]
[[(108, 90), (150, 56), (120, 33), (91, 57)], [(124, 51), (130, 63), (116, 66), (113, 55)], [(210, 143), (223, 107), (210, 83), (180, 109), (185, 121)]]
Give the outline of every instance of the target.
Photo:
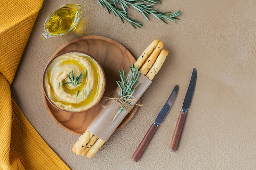
[(105, 91), (101, 65), (88, 53), (68, 51), (54, 57), (43, 74), (47, 100), (69, 112), (83, 112), (95, 106)]

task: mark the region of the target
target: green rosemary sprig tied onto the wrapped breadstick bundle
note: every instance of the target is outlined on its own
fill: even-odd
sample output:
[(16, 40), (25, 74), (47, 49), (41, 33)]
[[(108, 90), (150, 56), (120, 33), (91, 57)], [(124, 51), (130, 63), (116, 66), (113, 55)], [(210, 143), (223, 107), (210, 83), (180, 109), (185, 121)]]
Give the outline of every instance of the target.
[[(141, 73), (141, 71), (138, 73), (138, 70), (135, 69), (134, 64), (130, 66), (130, 70), (132, 73), (131, 80), (129, 80), (130, 73), (128, 73), (126, 76), (124, 69), (122, 69), (122, 72), (119, 70), (120, 80), (117, 82), (117, 85), (120, 88), (120, 97), (127, 96), (126, 97), (127, 99), (130, 99), (131, 95), (133, 95), (135, 90), (139, 87), (139, 84), (136, 87), (133, 87), (133, 86), (135, 86), (135, 84), (138, 83), (137, 79)], [(123, 110), (124, 108), (120, 106), (119, 110), (117, 111), (117, 114), (115, 115), (112, 121), (114, 121), (117, 115), (121, 113)]]

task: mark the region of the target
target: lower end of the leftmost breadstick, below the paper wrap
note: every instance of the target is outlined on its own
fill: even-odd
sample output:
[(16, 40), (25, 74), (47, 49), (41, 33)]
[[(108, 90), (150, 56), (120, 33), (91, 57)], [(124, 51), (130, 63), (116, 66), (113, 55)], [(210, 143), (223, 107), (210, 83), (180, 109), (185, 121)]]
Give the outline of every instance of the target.
[(91, 137), (92, 133), (89, 130), (86, 130), (76, 141), (72, 148), (72, 151), (76, 153), (76, 155), (81, 155)]

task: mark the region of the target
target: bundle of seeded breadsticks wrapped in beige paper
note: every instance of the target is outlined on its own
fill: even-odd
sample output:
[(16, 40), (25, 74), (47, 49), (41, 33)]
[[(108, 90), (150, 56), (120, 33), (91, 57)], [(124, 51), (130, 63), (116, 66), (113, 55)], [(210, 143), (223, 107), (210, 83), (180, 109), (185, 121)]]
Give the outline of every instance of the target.
[[(168, 51), (163, 49), (163, 42), (154, 40), (135, 62), (134, 66), (137, 70), (141, 71), (141, 75), (139, 75), (137, 80), (140, 86), (136, 89), (135, 93), (133, 93), (136, 99), (133, 102), (137, 102), (144, 91), (146, 91), (153, 78), (162, 67), (167, 55)], [(120, 95), (119, 87), (117, 87), (116, 93)], [(91, 158), (98, 152), (124, 117), (129, 113), (127, 110), (124, 110), (117, 116), (115, 121), (112, 121), (119, 107), (118, 104), (110, 104), (110, 107), (107, 108), (102, 107), (97, 117), (95, 117), (88, 126), (88, 129), (74, 144), (72, 151), (76, 153), (76, 155), (86, 155), (88, 158)]]

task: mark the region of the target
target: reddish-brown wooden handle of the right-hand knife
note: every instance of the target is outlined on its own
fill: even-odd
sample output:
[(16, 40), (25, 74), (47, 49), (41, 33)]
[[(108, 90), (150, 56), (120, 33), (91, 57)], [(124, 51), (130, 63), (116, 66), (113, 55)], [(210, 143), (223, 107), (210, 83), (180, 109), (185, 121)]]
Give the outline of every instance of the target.
[(175, 130), (173, 132), (171, 144), (169, 146), (169, 150), (171, 150), (172, 152), (175, 152), (177, 149), (185, 118), (186, 118), (186, 113), (180, 112), (180, 116), (178, 118)]

